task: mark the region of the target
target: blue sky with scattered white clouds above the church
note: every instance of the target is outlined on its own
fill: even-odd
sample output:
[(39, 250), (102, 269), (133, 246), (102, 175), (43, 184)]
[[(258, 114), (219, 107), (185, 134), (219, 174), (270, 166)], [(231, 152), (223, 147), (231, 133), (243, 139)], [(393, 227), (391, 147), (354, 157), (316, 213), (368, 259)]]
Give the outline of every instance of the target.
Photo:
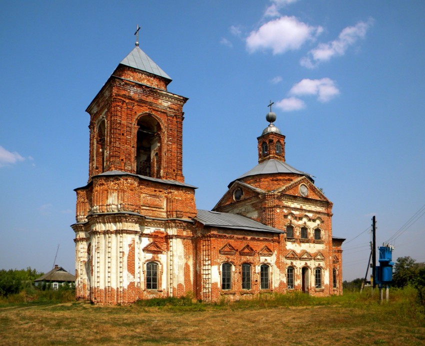
[[(257, 164), (268, 125), (314, 176), (346, 238), (343, 279), (377, 244), (425, 261), (425, 2), (0, 2), (0, 268), (74, 272), (74, 188), (88, 179), (86, 107), (140, 48), (188, 97), (183, 174), (212, 209)], [(57, 252), (57, 256), (56, 256)]]

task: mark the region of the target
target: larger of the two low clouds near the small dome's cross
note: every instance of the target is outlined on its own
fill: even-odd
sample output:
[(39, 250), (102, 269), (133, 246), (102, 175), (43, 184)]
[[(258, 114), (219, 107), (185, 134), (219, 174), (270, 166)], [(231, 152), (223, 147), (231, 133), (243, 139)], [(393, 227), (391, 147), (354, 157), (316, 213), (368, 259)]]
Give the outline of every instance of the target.
[(317, 95), (318, 101), (328, 102), (339, 95), (339, 90), (335, 86), (335, 82), (329, 78), (303, 79), (292, 86), (289, 95)]

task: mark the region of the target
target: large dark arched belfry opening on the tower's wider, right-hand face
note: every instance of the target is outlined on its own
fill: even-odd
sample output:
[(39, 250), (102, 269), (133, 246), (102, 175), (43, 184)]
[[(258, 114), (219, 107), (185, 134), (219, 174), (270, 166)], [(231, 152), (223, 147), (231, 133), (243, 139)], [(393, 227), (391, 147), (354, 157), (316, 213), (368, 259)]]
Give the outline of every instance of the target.
[(158, 121), (144, 115), (137, 121), (136, 173), (161, 177), (161, 128)]

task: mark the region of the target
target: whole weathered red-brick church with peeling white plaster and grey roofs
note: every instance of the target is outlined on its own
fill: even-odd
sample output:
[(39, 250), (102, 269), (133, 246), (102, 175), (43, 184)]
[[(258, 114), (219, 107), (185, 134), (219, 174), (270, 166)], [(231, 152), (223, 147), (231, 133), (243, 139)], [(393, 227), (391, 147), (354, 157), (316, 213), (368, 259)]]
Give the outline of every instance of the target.
[(182, 172), (187, 98), (169, 92), (170, 82), (136, 43), (86, 109), (88, 182), (75, 189), (71, 226), (76, 297), (342, 294), (344, 239), (332, 236), (332, 203), (285, 162), (271, 109), (258, 131), (258, 165), (231, 181), (212, 211), (197, 210)]

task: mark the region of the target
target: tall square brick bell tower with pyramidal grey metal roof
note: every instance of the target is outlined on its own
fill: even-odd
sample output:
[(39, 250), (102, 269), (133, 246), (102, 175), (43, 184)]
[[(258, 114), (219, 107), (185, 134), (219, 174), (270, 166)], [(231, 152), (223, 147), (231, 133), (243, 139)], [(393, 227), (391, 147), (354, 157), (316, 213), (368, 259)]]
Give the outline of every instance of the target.
[[(173, 254), (191, 235), (196, 206), (195, 187), (182, 173), (187, 98), (170, 93), (170, 82), (136, 42), (86, 109), (88, 182), (75, 189), (71, 226), (78, 298), (120, 303), (172, 296), (175, 285), (193, 290), (178, 276), (184, 263)], [(146, 283), (149, 260), (161, 275), (154, 291)]]

